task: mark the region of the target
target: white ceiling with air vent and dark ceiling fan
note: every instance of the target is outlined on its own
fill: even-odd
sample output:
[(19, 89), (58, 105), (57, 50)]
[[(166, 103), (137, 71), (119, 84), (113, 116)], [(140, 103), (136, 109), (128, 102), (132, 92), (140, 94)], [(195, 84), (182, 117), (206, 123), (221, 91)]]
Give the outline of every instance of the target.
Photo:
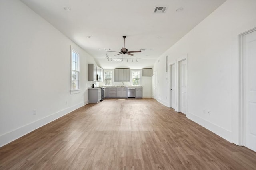
[[(154, 61), (226, 0), (21, 0), (87, 51), (102, 68), (152, 68)], [(155, 6), (168, 6), (154, 13)], [(70, 11), (64, 7), (71, 8)], [(177, 12), (182, 7), (182, 12)], [(106, 52), (146, 48), (142, 53)], [(91, 38), (88, 38), (91, 36)], [(100, 50), (99, 50), (100, 49)], [(105, 56), (141, 58), (108, 61)]]

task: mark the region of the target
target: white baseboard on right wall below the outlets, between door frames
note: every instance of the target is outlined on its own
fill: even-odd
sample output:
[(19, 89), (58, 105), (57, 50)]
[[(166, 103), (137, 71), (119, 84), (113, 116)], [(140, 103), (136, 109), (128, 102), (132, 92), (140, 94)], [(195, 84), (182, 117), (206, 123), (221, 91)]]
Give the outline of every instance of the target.
[(205, 127), (209, 131), (212, 131), (216, 135), (219, 135), (220, 137), (226, 139), (229, 142), (232, 142), (232, 132), (228, 131), (227, 129), (224, 129), (218, 125), (215, 125), (214, 123), (211, 123), (205, 119), (202, 119), (201, 117), (198, 117), (197, 115), (194, 115), (192, 113), (187, 113), (186, 117), (188, 119), (198, 123), (199, 125)]

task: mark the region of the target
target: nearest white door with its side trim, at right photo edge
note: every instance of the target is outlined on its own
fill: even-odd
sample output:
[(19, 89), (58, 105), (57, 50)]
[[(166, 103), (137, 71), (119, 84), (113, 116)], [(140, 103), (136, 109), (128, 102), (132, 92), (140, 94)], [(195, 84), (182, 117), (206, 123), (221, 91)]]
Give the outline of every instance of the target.
[(256, 28), (238, 39), (238, 145), (256, 151)]

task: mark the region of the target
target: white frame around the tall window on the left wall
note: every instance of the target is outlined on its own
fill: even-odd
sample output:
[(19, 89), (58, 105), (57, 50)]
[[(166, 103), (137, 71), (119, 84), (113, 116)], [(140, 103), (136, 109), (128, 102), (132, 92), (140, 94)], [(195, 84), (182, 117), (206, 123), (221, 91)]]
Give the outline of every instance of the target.
[[(78, 70), (73, 70), (73, 52), (78, 54)], [(76, 61), (75, 61), (76, 62)], [(78, 72), (78, 89), (73, 89), (72, 88), (72, 71)], [(75, 49), (71, 48), (70, 52), (70, 94), (76, 94), (80, 93), (81, 90), (81, 80), (80, 80), (80, 53), (76, 51)]]

